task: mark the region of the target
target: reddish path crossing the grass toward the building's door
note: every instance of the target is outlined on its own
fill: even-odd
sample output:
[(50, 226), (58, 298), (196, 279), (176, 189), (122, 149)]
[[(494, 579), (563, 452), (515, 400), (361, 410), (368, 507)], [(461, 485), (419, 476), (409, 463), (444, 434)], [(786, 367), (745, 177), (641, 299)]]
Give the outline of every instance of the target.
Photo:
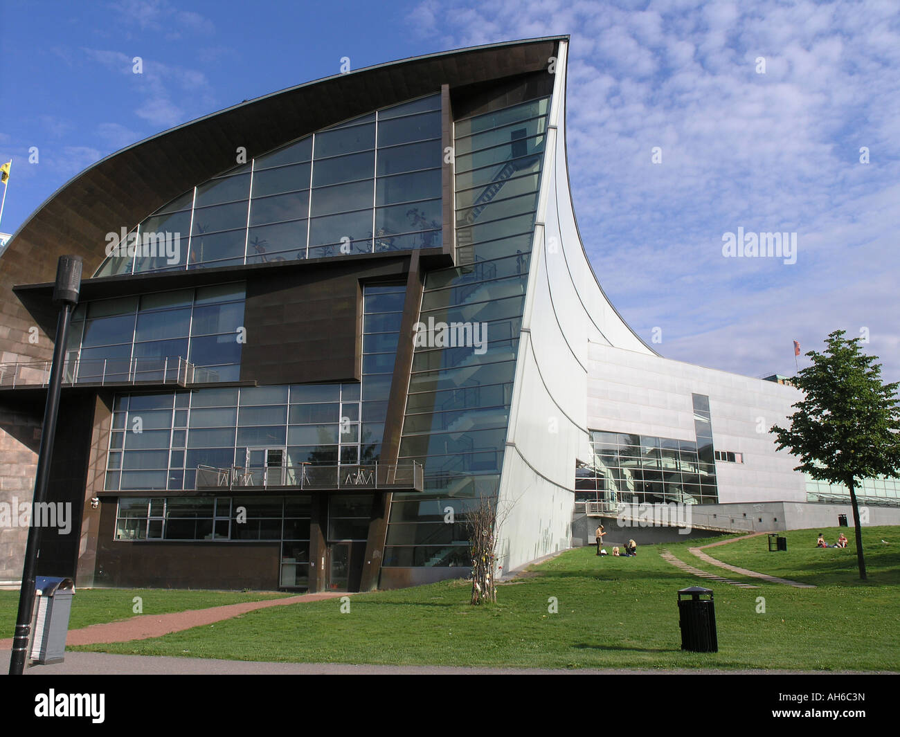
[[(352, 596), (352, 594), (323, 591), (320, 594), (302, 594), (296, 597), (273, 598), (264, 601), (245, 601), (240, 604), (226, 604), (208, 609), (188, 609), (165, 615), (139, 615), (119, 622), (89, 625), (77, 630), (69, 630), (67, 645), (93, 645), (99, 643), (127, 643), (130, 640), (148, 640), (164, 634), (189, 630), (191, 627), (212, 625), (223, 619), (247, 614), (266, 607), (284, 607), (287, 604), (305, 604), (325, 598)], [(10, 650), (12, 638), (0, 640), (0, 650)], [(68, 657), (68, 654), (66, 655)]]

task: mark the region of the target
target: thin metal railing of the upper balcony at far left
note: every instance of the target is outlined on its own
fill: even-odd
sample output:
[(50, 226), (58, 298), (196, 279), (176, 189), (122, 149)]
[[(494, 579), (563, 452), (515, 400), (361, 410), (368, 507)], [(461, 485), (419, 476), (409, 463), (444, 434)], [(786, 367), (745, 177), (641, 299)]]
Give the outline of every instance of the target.
[[(0, 388), (47, 386), (50, 362), (0, 364)], [(176, 384), (217, 382), (214, 369), (173, 358), (71, 358), (63, 364), (63, 384)]]

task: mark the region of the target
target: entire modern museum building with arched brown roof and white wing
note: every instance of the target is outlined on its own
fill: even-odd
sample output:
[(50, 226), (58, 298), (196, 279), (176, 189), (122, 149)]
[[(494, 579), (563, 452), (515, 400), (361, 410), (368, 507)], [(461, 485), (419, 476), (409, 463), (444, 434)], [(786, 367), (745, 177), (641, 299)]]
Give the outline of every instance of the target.
[[(572, 210), (568, 47), (295, 86), (44, 202), (0, 256), (0, 580), (21, 577), (66, 254), (85, 278), (49, 500), (71, 524), (42, 529), (39, 574), (409, 586), (467, 575), (482, 498), (504, 571), (592, 542), (586, 508), (620, 503), (836, 524), (846, 490), (768, 432), (797, 390), (663, 358), (600, 288)], [(895, 481), (859, 493), (900, 505)]]

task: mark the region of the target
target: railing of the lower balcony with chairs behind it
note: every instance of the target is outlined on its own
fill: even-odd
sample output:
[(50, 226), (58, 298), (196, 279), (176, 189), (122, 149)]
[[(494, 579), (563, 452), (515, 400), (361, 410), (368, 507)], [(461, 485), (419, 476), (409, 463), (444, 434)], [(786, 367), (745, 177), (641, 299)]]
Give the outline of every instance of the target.
[(424, 487), (421, 463), (365, 463), (361, 465), (270, 466), (242, 468), (197, 466), (196, 489), (272, 489), (303, 490), (416, 490)]

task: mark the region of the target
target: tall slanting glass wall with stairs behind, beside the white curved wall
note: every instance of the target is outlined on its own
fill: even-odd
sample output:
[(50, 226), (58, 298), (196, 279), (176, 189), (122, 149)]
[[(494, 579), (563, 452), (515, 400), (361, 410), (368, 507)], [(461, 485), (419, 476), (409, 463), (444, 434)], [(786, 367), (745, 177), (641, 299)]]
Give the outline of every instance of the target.
[(461, 520), (499, 490), (549, 104), (455, 122), (464, 265), (428, 274), (419, 321), (469, 325), (483, 344), (415, 349), (400, 462), (423, 463), (425, 493), (393, 495), (384, 566), (469, 565)]

